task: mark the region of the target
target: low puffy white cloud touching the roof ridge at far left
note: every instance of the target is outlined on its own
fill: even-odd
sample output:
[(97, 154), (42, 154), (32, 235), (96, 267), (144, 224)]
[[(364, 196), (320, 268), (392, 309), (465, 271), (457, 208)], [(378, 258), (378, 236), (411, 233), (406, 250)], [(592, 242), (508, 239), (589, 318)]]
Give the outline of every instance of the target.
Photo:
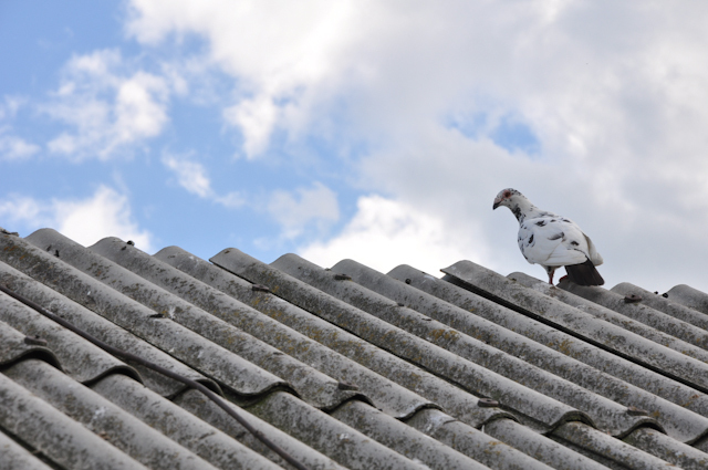
[(85, 247), (105, 237), (118, 237), (133, 240), (143, 251), (154, 251), (153, 236), (134, 220), (127, 197), (106, 186), (82, 200), (11, 196), (0, 200), (0, 218), (11, 231), (20, 231), (13, 224), (30, 231), (51, 227)]

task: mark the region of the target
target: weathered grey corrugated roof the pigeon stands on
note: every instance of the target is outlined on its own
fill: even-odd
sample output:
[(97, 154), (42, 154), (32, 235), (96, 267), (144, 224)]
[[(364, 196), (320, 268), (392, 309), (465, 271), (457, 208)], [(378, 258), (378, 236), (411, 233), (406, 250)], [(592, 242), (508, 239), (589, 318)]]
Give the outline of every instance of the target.
[[(306, 468), (708, 468), (708, 294), (442, 271), (0, 233), (0, 284)], [(4, 293), (0, 370), (3, 469), (292, 468)]]

